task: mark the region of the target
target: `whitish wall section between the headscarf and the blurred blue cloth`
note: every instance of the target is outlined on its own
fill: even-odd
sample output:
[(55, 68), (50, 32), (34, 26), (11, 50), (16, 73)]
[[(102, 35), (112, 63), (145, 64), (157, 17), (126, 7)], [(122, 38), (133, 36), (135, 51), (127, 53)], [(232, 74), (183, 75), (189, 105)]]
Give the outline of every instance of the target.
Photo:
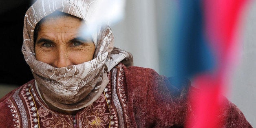
[(133, 54), (134, 65), (159, 71), (154, 0), (126, 0), (124, 20), (112, 27), (115, 46)]

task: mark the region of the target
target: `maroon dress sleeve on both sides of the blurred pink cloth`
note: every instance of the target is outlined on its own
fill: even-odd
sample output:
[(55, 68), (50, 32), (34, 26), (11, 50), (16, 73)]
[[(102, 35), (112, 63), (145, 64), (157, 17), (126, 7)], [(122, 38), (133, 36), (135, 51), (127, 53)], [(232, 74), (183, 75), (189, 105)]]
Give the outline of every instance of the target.
[[(192, 91), (200, 90), (190, 86), (184, 78), (167, 78), (150, 68), (129, 67), (126, 71), (128, 107), (134, 124), (141, 128), (184, 127), (189, 114), (193, 115), (193, 107), (188, 100)], [(243, 113), (227, 98), (226, 107), (221, 108), (219, 117), (223, 126), (252, 128)], [(196, 120), (196, 116), (193, 117)], [(219, 123), (218, 123), (219, 124)]]

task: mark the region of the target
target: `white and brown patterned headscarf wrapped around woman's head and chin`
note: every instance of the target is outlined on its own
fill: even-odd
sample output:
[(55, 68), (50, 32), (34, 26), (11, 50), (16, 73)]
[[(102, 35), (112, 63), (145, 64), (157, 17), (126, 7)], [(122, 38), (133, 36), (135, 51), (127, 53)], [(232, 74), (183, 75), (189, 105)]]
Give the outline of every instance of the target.
[(38, 0), (26, 11), (22, 53), (41, 95), (59, 109), (78, 110), (92, 104), (109, 82), (108, 71), (121, 61), (132, 65), (130, 53), (113, 47), (108, 25), (101, 25), (92, 35), (96, 50), (91, 61), (55, 68), (35, 59), (34, 30), (42, 18), (61, 11), (90, 22), (96, 3), (97, 0)]

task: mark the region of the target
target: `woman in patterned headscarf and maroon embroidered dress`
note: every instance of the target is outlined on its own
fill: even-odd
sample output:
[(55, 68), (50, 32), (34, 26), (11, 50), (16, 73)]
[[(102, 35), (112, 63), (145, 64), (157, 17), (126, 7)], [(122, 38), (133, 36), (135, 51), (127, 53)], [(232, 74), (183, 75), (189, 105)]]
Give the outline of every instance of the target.
[[(113, 47), (107, 25), (91, 38), (81, 35), (95, 3), (38, 0), (28, 9), (22, 53), (35, 79), (0, 99), (1, 128), (184, 126), (190, 82), (177, 88), (152, 69), (131, 66), (132, 55)], [(222, 123), (251, 127), (226, 102)]]

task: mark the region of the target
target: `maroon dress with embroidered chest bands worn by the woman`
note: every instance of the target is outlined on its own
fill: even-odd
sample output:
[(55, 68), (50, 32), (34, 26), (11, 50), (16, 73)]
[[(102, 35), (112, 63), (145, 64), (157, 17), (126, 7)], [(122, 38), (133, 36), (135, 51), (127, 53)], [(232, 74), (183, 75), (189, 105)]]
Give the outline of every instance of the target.
[[(31, 80), (0, 99), (0, 128), (163, 128), (184, 126), (186, 115), (192, 112), (187, 101), (192, 87), (174, 93), (168, 79), (152, 69), (119, 64), (108, 72), (108, 78), (102, 95), (75, 116), (46, 106)], [(223, 127), (252, 127), (234, 104), (226, 102)]]

